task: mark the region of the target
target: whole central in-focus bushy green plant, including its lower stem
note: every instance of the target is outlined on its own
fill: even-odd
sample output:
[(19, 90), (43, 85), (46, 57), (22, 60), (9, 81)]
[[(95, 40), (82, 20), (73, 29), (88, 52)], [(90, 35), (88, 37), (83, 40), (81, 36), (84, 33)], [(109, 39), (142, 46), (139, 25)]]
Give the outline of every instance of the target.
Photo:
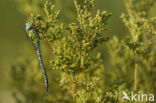
[(77, 22), (66, 24), (67, 26), (57, 23), (59, 11), (48, 1), (44, 4), (45, 15), (31, 15), (30, 18), (39, 30), (40, 37), (46, 38), (52, 45), (52, 68), (61, 71), (60, 86), (72, 94), (75, 103), (87, 102), (94, 90), (98, 76), (92, 77), (87, 71), (99, 69), (97, 61), (100, 55), (93, 56), (92, 52), (99, 44), (108, 40), (104, 31), (111, 14), (98, 10), (96, 16), (92, 17), (90, 11), (94, 7), (93, 2), (85, 0), (81, 5), (75, 0)]

